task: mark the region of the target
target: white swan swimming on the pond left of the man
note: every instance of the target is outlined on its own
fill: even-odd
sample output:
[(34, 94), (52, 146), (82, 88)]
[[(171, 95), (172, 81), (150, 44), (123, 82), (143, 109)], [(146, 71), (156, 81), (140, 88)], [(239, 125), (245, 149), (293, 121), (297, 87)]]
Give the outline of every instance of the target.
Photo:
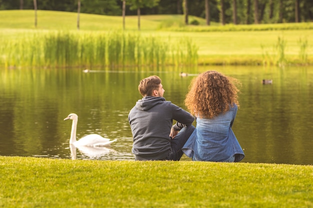
[(74, 146), (107, 146), (110, 145), (112, 142), (115, 142), (116, 139), (110, 140), (107, 138), (103, 138), (98, 134), (89, 134), (78, 141), (76, 140), (76, 128), (77, 128), (77, 121), (78, 121), (78, 116), (74, 113), (69, 114), (65, 120), (73, 120), (71, 124), (71, 132), (70, 132), (70, 139), (69, 139), (69, 144), (72, 144)]

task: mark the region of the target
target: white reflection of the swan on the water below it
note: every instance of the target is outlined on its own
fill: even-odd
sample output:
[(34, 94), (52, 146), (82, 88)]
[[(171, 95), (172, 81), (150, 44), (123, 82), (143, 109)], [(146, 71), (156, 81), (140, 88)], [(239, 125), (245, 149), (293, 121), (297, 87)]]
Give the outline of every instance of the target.
[(93, 146), (79, 146), (75, 147), (74, 145), (69, 145), (70, 156), (72, 160), (76, 160), (76, 148), (84, 156), (87, 156), (89, 159), (98, 159), (102, 156), (107, 155), (110, 152), (115, 152), (111, 147), (93, 147)]

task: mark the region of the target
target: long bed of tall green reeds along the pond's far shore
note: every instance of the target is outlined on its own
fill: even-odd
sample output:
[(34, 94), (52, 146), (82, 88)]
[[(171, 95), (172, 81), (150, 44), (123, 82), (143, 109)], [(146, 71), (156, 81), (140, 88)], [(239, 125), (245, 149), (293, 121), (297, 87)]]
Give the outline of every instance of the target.
[[(190, 38), (141, 36), (139, 33), (32, 33), (0, 42), (0, 66), (103, 67), (196, 64), (197, 47)], [(171, 49), (169, 49), (171, 48)]]

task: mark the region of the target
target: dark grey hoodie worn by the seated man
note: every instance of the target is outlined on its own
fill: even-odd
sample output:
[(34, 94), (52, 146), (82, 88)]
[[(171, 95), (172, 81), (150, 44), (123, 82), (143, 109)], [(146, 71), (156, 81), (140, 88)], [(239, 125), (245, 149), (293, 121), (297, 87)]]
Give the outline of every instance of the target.
[(136, 159), (163, 160), (169, 155), (172, 120), (189, 126), (194, 118), (163, 97), (146, 96), (136, 102), (128, 114)]

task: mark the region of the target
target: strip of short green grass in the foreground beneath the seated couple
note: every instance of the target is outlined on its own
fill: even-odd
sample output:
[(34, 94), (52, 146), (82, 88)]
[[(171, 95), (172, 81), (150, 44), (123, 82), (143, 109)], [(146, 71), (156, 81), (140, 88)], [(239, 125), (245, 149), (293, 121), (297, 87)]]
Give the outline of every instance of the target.
[(311, 208), (313, 167), (0, 157), (2, 208)]

